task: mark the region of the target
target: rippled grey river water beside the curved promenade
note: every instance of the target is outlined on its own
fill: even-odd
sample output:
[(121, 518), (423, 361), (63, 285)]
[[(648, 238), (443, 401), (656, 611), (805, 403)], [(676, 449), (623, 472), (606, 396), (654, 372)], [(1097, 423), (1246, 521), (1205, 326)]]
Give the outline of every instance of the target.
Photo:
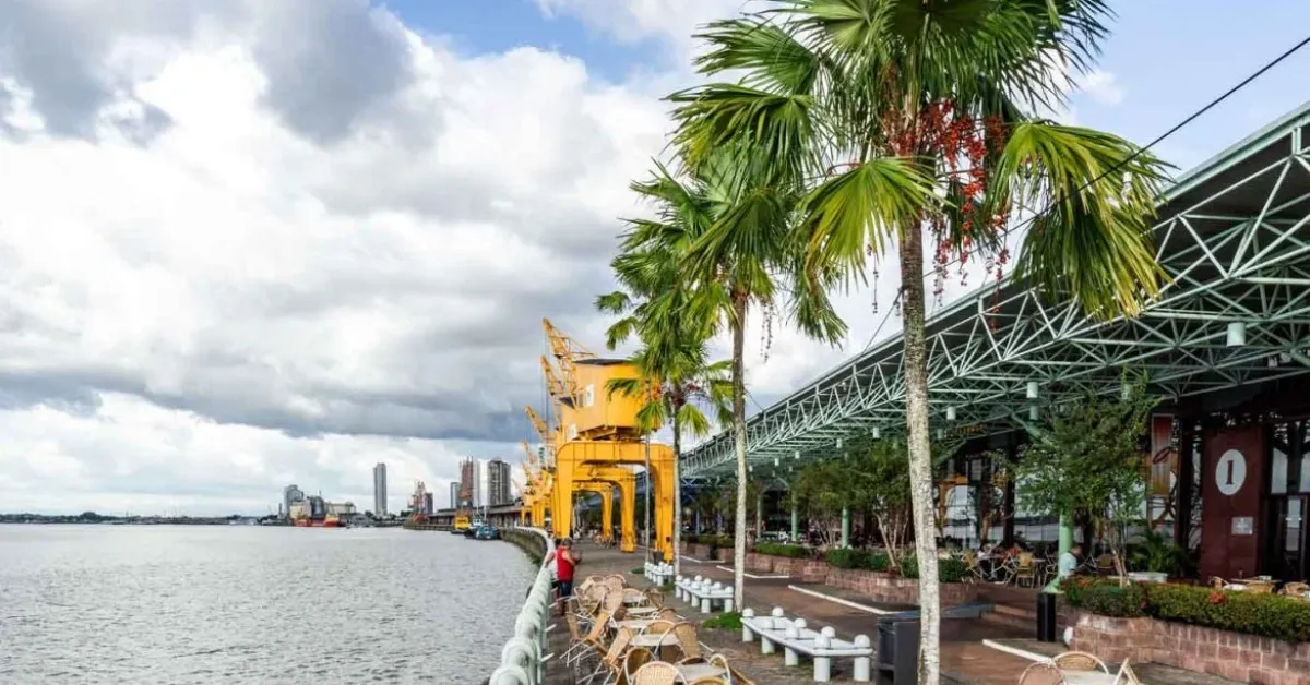
[(533, 572), (396, 528), (0, 525), (0, 684), (481, 684)]

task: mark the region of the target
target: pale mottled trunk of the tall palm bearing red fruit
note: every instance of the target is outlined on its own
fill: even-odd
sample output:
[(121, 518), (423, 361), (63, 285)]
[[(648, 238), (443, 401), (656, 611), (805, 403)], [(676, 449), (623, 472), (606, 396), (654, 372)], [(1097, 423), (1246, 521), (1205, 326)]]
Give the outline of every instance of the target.
[(918, 557), (920, 685), (941, 678), (942, 602), (937, 582), (937, 512), (933, 509), (933, 452), (927, 424), (927, 344), (924, 330), (924, 232), (904, 227), (900, 246), (901, 313), (904, 316), (905, 427), (909, 443), (909, 487), (914, 508)]

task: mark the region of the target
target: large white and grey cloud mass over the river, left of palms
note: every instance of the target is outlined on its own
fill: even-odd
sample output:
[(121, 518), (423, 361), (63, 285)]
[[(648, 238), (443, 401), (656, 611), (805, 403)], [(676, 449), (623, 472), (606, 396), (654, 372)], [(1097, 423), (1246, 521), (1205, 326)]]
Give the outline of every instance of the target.
[[(326, 4), (103, 17), (59, 79), (0, 50), (0, 509), (263, 511), (286, 482), (365, 504), (379, 458), (393, 500), (516, 460), (540, 318), (599, 330), (664, 106)], [(360, 12), (368, 64), (313, 48)]]

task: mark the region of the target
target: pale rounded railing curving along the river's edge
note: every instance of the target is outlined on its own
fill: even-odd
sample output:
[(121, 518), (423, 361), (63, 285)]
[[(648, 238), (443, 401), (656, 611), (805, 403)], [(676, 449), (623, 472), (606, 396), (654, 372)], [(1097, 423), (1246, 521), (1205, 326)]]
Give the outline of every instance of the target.
[(541, 685), (546, 673), (546, 626), (550, 623), (552, 584), (546, 558), (555, 550), (554, 540), (540, 528), (515, 528), (541, 536), (545, 553), (541, 567), (528, 588), (528, 599), (514, 621), (514, 637), (500, 648), (500, 665), (491, 672), (489, 685)]

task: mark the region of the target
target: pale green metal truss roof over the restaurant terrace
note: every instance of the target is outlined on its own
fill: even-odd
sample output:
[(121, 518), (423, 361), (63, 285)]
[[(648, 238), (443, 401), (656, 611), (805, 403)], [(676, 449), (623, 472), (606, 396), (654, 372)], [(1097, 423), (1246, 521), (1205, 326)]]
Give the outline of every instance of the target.
[[(934, 428), (1013, 430), (1035, 405), (1117, 392), (1125, 368), (1170, 401), (1310, 372), (1310, 103), (1186, 174), (1158, 216), (1170, 283), (1138, 318), (1094, 321), (1006, 279), (929, 320)], [(1230, 333), (1244, 342), (1230, 346)], [(903, 430), (901, 344), (888, 339), (752, 417), (752, 470)], [(730, 472), (731, 435), (683, 460), (686, 477)]]

